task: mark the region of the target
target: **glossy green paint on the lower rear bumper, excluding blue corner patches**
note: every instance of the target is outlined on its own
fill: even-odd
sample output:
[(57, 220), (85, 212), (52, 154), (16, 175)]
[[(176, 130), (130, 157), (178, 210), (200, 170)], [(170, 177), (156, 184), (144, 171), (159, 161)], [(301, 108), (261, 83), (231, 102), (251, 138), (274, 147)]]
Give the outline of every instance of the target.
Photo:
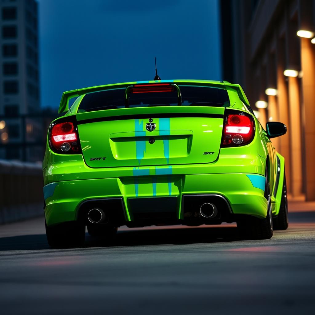
[[(126, 220), (132, 221), (128, 209), (128, 198), (135, 197), (135, 177), (138, 177), (138, 198), (153, 195), (153, 178), (156, 178), (156, 197), (179, 196), (185, 194), (224, 194), (232, 205), (233, 213), (266, 217), (267, 202), (264, 192), (252, 186), (246, 174), (194, 174), (156, 175), (158, 168), (150, 167), (149, 175), (116, 177), (91, 180), (69, 180), (58, 182), (54, 195), (46, 199), (45, 216), (47, 224), (72, 221), (77, 218), (81, 202), (89, 199), (123, 197)], [(169, 184), (171, 189), (169, 189)], [(178, 218), (183, 219), (177, 209)]]

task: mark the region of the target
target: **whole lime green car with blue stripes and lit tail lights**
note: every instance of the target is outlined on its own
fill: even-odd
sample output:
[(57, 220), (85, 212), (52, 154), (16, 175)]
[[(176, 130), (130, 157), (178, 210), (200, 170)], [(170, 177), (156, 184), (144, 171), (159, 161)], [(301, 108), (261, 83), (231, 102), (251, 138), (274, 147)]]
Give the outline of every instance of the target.
[[(69, 101), (76, 98), (72, 105)], [(70, 103), (71, 104), (71, 103)], [(43, 160), (49, 245), (80, 246), (85, 227), (237, 222), (267, 239), (288, 227), (284, 158), (238, 84), (158, 80), (64, 92)]]

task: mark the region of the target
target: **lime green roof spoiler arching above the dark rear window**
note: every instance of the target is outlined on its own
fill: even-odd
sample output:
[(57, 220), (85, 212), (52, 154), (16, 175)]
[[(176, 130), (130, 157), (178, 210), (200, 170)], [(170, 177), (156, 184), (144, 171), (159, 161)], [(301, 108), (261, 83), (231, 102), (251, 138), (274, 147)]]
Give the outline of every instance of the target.
[[(149, 82), (149, 81), (148, 81)], [(154, 81), (153, 81), (154, 82)], [(221, 81), (220, 83), (214, 83), (214, 82), (209, 82), (207, 83), (207, 81), (198, 81), (198, 80), (192, 80), (191, 82), (189, 82), (188, 80), (172, 80), (172, 82), (174, 83), (189, 83), (192, 85), (197, 85), (200, 83), (206, 83), (210, 86), (213, 87), (218, 87), (218, 88), (222, 88), (222, 83), (224, 83), (224, 87), (226, 89), (232, 89), (235, 92), (237, 92), (238, 97), (240, 98), (240, 100), (242, 100), (243, 103), (245, 103), (246, 105), (249, 106), (249, 101), (242, 89), (242, 87), (239, 84), (232, 84), (229, 83), (227, 81)], [(85, 89), (77, 89), (77, 90), (71, 90), (71, 91), (66, 91), (62, 93), (62, 97), (60, 100), (60, 105), (59, 105), (59, 110), (58, 113), (63, 113), (63, 112), (67, 112), (69, 110), (69, 100), (71, 100), (74, 97), (78, 97), (80, 95), (83, 94), (87, 94), (87, 93), (93, 93), (93, 92), (99, 92), (99, 91), (104, 91), (107, 89), (113, 89), (116, 86), (121, 86), (121, 87), (128, 87), (132, 84), (137, 84), (138, 82), (129, 82), (129, 83), (117, 83), (117, 84), (108, 84), (108, 85), (100, 85), (100, 86), (94, 86), (91, 88), (85, 88)], [(151, 83), (151, 82), (150, 82)], [(158, 82), (157, 82), (158, 83)]]

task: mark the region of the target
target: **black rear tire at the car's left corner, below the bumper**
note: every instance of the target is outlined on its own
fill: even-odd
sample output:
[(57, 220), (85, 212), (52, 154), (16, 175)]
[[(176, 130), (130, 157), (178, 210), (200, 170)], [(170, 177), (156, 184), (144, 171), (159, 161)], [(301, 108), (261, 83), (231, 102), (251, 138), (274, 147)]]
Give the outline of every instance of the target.
[(52, 248), (81, 247), (85, 238), (85, 225), (78, 222), (64, 222), (46, 227), (47, 241)]

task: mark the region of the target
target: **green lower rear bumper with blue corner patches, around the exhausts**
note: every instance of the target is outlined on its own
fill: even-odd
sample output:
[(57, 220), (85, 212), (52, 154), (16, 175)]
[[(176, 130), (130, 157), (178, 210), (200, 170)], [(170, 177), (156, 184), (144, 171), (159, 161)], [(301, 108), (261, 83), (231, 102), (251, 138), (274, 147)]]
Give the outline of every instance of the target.
[[(231, 214), (227, 215), (229, 221), (234, 221), (233, 215), (253, 215), (258, 218), (267, 215), (267, 201), (264, 197), (265, 177), (262, 175), (244, 173), (175, 175), (168, 169), (154, 175), (135, 170), (133, 175), (58, 181), (45, 185), (47, 225), (78, 220), (83, 204), (86, 207), (88, 202), (97, 200), (100, 202), (119, 200), (119, 203), (111, 205), (110, 212), (122, 212), (115, 215), (124, 221), (123, 224), (128, 225), (137, 221), (141, 211), (154, 212), (158, 218), (158, 208), (165, 208), (166, 205), (168, 205), (166, 208), (173, 209), (174, 218), (178, 223), (185, 224), (185, 213), (190, 211), (187, 209), (188, 203), (183, 202), (187, 195), (201, 195), (200, 198), (196, 196), (196, 203), (190, 203), (189, 207), (196, 209), (202, 202), (202, 196), (221, 196)], [(163, 197), (172, 199), (157, 199)], [(157, 206), (158, 204), (160, 206)], [(222, 217), (221, 221), (224, 220)]]

